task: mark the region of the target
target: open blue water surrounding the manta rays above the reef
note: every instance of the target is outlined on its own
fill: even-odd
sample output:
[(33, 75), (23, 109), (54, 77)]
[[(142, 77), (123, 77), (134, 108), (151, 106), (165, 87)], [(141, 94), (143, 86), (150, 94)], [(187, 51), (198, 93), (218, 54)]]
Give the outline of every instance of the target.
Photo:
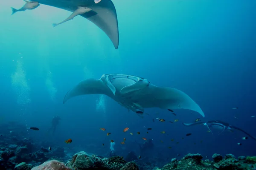
[[(39, 127), (40, 131), (24, 129), (23, 136), (59, 145), (72, 154), (84, 150), (107, 156), (112, 139), (117, 155), (132, 150), (139, 155), (135, 141), (143, 144), (141, 138), (146, 137), (153, 139), (151, 154), (162, 163), (187, 153), (256, 155), (255, 141), (241, 140), (243, 133), (212, 135), (207, 127), (182, 125), (197, 118), (217, 119), (256, 136), (256, 117), (251, 117), (256, 115), (256, 1), (113, 3), (119, 24), (117, 50), (102, 30), (83, 17), (52, 28), (69, 11), (41, 5), (11, 15), (10, 7), (18, 8), (24, 2), (0, 1), (0, 124), (15, 121)], [(142, 119), (101, 95), (78, 96), (62, 103), (67, 91), (81, 80), (112, 73), (136, 75), (154, 85), (184, 91), (202, 108), (205, 118), (188, 110), (174, 110), (174, 116), (150, 108), (145, 109), (150, 116)], [(47, 135), (56, 115), (61, 122), (53, 136)], [(153, 122), (157, 117), (166, 122)], [(179, 121), (169, 123), (175, 119)], [(102, 127), (107, 130), (99, 130)], [(127, 133), (122, 132), (125, 127), (130, 128)], [(147, 134), (148, 127), (153, 130)], [(160, 133), (163, 130), (166, 134)], [(107, 132), (111, 135), (106, 136)], [(66, 144), (69, 138), (73, 142)], [(124, 145), (120, 144), (123, 138)]]

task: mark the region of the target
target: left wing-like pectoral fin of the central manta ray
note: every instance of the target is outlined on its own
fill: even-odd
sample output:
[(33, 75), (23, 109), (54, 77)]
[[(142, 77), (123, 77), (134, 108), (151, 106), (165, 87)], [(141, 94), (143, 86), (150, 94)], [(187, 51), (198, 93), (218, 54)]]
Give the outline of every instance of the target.
[(67, 92), (64, 97), (63, 103), (68, 99), (84, 95), (84, 94), (108, 94), (108, 88), (102, 83), (101, 79), (85, 79), (79, 82), (73, 89)]

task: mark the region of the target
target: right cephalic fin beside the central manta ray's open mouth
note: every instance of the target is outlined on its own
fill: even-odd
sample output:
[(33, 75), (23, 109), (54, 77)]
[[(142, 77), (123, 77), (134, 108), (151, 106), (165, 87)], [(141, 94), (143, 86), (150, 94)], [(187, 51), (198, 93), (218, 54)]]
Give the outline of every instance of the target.
[(148, 83), (149, 82), (148, 82), (147, 79), (138, 79), (138, 81), (135, 82), (134, 84), (123, 87), (121, 89), (120, 93), (121, 94), (126, 94), (126, 93), (129, 93), (129, 92), (132, 92), (132, 91), (141, 90), (141, 89), (147, 87)]

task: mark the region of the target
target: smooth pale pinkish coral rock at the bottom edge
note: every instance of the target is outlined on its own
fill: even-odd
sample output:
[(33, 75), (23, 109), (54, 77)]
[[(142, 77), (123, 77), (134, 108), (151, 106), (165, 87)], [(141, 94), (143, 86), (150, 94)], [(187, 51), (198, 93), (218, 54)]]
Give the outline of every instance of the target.
[(63, 162), (57, 160), (46, 161), (43, 164), (33, 167), (31, 170), (72, 170)]

